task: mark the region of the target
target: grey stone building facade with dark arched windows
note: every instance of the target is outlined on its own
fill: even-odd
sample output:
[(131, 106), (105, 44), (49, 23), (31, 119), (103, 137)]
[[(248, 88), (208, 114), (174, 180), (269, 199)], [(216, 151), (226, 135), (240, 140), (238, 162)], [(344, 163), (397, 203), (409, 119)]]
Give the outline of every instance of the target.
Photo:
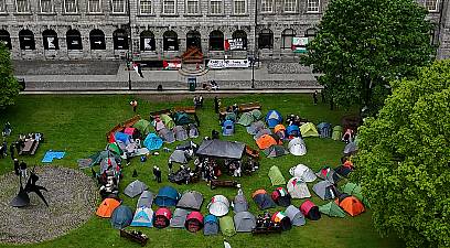
[[(257, 2), (256, 2), (257, 1)], [(449, 0), (419, 0), (450, 57)], [(15, 60), (293, 57), (292, 37), (313, 37), (328, 0), (0, 0), (0, 41)], [(257, 10), (257, 13), (256, 13)], [(131, 30), (131, 32), (129, 32)], [(130, 35), (131, 34), (131, 35)], [(224, 40), (243, 48), (225, 51)], [(132, 46), (129, 46), (131, 41)], [(255, 41), (257, 48), (255, 50)]]

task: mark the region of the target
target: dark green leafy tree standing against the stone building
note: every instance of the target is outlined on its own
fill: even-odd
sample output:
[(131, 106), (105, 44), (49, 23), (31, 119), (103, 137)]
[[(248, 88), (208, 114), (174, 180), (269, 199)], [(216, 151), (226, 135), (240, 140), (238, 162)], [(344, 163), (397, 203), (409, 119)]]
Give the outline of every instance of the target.
[(414, 76), (436, 53), (432, 24), (415, 0), (331, 0), (301, 57), (338, 106), (376, 112), (393, 79)]

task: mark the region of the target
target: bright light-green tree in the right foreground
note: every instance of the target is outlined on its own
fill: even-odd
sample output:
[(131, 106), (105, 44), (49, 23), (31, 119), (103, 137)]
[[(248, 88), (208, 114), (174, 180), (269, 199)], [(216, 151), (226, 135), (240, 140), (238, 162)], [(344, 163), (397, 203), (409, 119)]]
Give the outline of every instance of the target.
[(358, 129), (354, 180), (375, 227), (408, 247), (450, 247), (450, 61), (393, 83), (393, 95)]

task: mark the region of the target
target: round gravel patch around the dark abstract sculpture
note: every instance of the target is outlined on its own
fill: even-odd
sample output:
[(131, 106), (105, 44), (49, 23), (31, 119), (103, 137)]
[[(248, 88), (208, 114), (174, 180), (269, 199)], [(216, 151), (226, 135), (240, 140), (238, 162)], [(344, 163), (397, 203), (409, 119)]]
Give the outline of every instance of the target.
[(42, 166), (35, 172), (38, 185), (49, 207), (34, 193), (30, 206), (11, 207), (9, 204), (19, 191), (19, 179), (12, 172), (0, 176), (0, 244), (31, 244), (54, 239), (86, 223), (98, 203), (94, 180), (66, 168)]

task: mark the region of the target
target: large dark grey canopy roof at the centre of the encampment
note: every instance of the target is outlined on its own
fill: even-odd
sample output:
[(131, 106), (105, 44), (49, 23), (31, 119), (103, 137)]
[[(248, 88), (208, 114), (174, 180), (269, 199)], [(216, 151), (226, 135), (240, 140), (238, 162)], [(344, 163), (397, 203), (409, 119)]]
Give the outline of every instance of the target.
[(223, 159), (240, 159), (244, 154), (245, 144), (236, 141), (203, 140), (196, 154)]

